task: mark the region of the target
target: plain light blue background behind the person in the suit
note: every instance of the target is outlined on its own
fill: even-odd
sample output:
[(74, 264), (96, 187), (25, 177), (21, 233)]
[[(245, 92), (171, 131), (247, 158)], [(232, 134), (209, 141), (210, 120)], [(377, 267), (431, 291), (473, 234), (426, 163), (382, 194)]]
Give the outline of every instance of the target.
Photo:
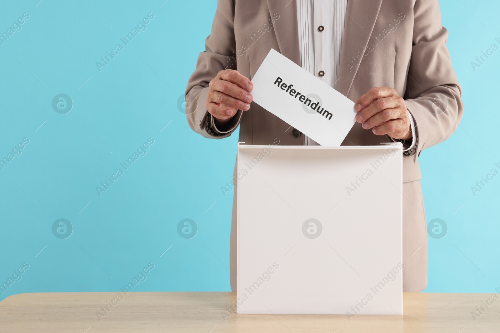
[[(232, 193), (220, 188), (232, 177), (237, 133), (205, 139), (177, 107), (215, 0), (38, 1), (0, 7), (0, 32), (29, 14), (0, 45), (0, 158), (29, 139), (0, 171), (0, 282), (30, 265), (0, 299), (118, 291), (149, 262), (154, 269), (134, 291), (228, 291)], [(419, 157), (427, 221), (449, 228), (429, 238), (426, 291), (491, 293), (500, 287), (500, 176), (475, 197), (470, 187), (500, 171), (500, 50), (476, 71), (470, 62), (500, 46), (490, 15), (500, 3), (440, 4), (465, 114), (448, 141)], [(149, 12), (146, 30), (99, 72), (95, 62)], [(59, 93), (73, 100), (67, 114), (51, 107)], [(147, 154), (99, 197), (95, 187), (148, 138)], [(74, 228), (64, 240), (51, 231), (59, 218)], [(192, 239), (176, 232), (184, 218), (198, 225)]]

